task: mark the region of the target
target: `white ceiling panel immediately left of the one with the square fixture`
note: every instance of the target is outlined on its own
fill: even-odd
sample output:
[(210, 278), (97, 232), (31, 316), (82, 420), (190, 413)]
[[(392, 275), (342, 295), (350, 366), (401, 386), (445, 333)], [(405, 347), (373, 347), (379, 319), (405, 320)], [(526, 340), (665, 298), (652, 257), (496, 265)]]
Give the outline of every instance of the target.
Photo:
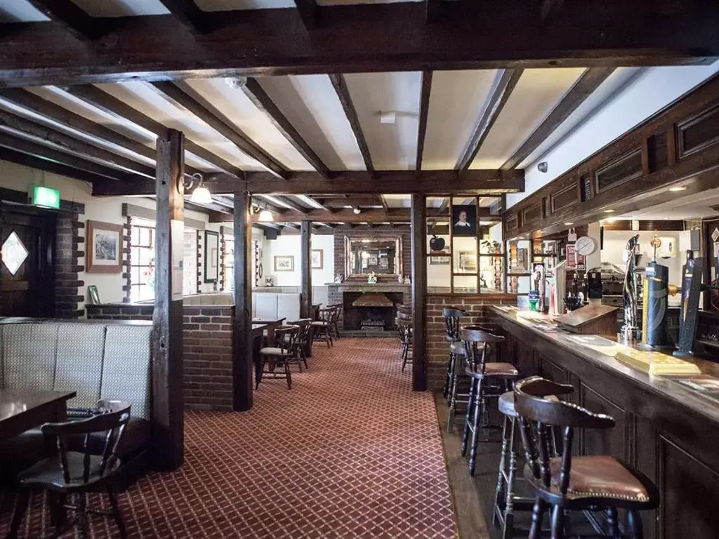
[(327, 75), (260, 77), (262, 89), (331, 170), (365, 170)]

